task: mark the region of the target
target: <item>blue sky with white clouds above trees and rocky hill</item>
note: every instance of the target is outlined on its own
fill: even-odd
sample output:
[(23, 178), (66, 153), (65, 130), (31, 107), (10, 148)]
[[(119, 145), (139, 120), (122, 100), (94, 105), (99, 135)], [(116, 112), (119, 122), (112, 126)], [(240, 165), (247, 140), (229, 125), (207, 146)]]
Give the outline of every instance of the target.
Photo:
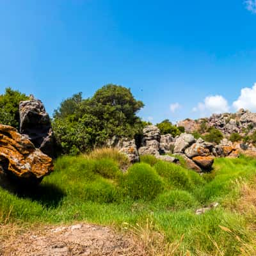
[(107, 83), (154, 123), (256, 111), (256, 0), (1, 0), (0, 33), (0, 93), (49, 113)]

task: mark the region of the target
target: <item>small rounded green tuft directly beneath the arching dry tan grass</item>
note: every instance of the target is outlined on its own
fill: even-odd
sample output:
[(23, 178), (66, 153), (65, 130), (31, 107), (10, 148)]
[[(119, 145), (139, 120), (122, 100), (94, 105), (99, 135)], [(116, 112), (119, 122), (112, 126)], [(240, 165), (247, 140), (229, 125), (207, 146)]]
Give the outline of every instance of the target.
[(117, 163), (109, 158), (95, 160), (93, 164), (93, 172), (107, 179), (115, 179), (121, 174)]

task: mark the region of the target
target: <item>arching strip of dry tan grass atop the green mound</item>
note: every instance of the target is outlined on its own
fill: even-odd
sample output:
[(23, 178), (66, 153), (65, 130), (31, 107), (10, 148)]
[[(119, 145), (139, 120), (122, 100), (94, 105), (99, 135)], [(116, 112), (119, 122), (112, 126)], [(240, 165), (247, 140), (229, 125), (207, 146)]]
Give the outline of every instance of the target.
[(129, 167), (129, 159), (116, 148), (96, 148), (90, 154), (85, 154), (84, 157), (94, 160), (109, 158), (116, 161), (121, 170), (127, 170)]

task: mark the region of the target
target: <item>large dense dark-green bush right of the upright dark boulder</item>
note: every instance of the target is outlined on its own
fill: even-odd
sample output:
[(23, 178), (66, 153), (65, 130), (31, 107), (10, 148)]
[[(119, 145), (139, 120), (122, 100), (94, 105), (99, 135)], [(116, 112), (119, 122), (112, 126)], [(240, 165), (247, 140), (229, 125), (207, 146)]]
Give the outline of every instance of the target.
[(143, 123), (136, 113), (142, 107), (131, 90), (108, 84), (90, 99), (77, 93), (61, 102), (52, 126), (63, 154), (77, 154), (104, 145), (114, 135), (134, 137), (141, 133)]

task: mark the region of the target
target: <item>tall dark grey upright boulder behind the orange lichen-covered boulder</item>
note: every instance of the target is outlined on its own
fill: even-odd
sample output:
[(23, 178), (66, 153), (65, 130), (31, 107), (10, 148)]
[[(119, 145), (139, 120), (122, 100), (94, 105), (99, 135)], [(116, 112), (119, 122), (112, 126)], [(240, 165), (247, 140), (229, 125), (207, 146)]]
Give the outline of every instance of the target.
[(45, 111), (44, 104), (31, 97), (30, 100), (21, 101), (20, 134), (25, 134), (36, 148), (50, 157), (56, 157), (56, 143), (52, 132), (51, 119)]

